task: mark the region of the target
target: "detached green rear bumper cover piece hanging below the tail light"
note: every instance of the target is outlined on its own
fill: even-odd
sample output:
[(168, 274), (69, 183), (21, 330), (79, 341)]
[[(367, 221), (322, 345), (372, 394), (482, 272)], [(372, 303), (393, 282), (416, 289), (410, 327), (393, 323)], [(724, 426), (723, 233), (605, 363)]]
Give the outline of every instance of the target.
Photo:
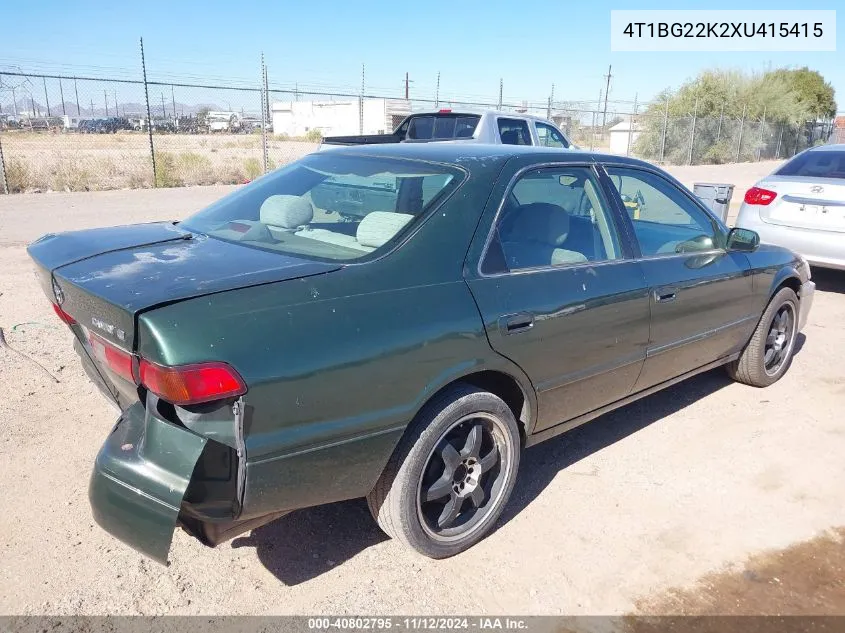
[(123, 412), (94, 463), (88, 497), (104, 530), (167, 564), (194, 465), (207, 440), (140, 403)]

